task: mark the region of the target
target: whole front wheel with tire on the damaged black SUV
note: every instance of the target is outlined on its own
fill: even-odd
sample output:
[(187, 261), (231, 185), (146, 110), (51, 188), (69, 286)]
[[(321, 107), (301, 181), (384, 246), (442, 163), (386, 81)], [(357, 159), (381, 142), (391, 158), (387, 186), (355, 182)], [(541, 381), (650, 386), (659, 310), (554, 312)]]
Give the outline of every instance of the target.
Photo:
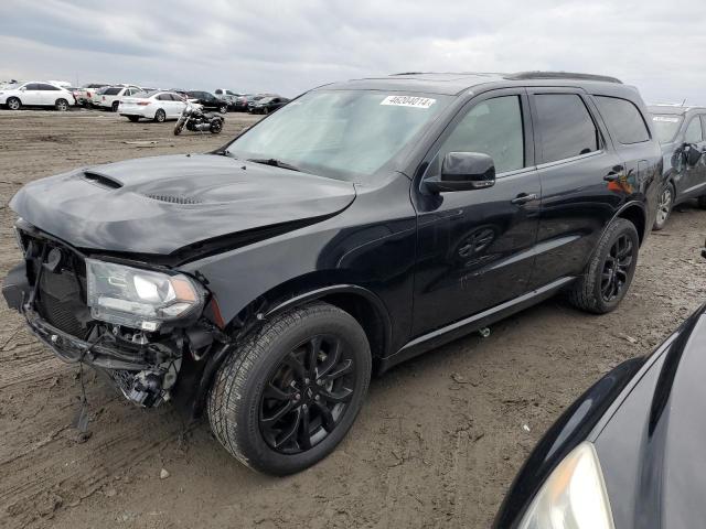
[(243, 464), (272, 475), (329, 455), (353, 424), (371, 377), (365, 333), (328, 303), (267, 322), (232, 353), (208, 393), (211, 428)]

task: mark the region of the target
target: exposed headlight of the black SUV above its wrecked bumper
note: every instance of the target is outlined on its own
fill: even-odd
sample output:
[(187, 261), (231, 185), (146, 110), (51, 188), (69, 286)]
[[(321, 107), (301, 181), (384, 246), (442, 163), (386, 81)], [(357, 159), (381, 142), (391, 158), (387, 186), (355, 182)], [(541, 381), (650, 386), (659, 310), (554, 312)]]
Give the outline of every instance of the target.
[(103, 322), (157, 331), (203, 306), (203, 289), (181, 273), (86, 259), (86, 277), (90, 315)]

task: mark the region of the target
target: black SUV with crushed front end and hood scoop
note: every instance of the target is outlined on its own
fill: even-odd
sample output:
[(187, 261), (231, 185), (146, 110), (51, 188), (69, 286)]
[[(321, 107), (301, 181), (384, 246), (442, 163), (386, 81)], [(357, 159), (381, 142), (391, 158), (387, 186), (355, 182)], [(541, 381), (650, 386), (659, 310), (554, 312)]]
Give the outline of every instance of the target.
[(205, 407), (244, 464), (297, 472), (374, 368), (559, 291), (616, 309), (662, 173), (645, 116), (637, 89), (578, 74), (318, 88), (216, 152), (25, 185), (3, 294), (132, 402)]

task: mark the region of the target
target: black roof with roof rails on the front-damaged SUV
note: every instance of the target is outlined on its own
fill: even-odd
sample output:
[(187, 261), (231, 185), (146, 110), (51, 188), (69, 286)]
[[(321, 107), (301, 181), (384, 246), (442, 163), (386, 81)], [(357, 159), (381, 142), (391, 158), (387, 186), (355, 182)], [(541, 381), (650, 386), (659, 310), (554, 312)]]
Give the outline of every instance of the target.
[(610, 91), (634, 90), (614, 77), (568, 72), (521, 72), (515, 74), (415, 72), (352, 79), (325, 87), (425, 91), (452, 96), (474, 86), (488, 84), (503, 86), (602, 86), (610, 88)]

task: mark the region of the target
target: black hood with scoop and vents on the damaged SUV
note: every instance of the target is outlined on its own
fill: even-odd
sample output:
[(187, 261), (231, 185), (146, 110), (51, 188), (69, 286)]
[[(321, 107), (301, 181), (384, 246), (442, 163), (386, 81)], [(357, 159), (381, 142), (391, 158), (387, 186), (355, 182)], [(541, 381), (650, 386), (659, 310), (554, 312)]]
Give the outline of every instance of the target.
[(32, 182), (10, 207), (85, 249), (170, 255), (200, 241), (311, 224), (345, 209), (350, 182), (217, 154), (143, 158)]

